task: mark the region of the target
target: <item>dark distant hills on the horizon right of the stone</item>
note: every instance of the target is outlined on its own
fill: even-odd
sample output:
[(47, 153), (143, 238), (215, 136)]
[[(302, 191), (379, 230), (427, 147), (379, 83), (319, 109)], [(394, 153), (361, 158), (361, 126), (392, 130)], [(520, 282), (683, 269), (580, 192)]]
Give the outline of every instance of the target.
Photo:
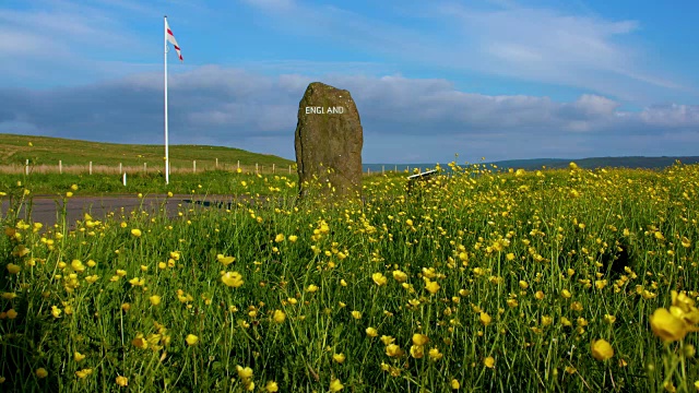
[[(499, 160), (493, 163), (479, 163), (485, 164), (486, 166), (496, 165), (498, 169), (507, 170), (509, 168), (512, 169), (541, 169), (542, 167), (546, 167), (549, 169), (559, 169), (567, 168), (570, 162), (574, 162), (581, 168), (594, 169), (594, 168), (645, 168), (645, 169), (662, 169), (675, 164), (675, 160), (679, 160), (683, 164), (697, 164), (699, 163), (699, 156), (690, 156), (690, 157), (592, 157), (592, 158), (580, 158), (580, 159), (567, 159), (567, 158), (532, 158), (532, 159), (508, 159), (508, 160)], [(460, 164), (463, 166), (463, 163)], [(381, 170), (395, 170), (405, 171), (408, 169), (411, 171), (414, 168), (419, 168), (425, 170), (426, 168), (434, 168), (436, 166), (433, 164), (364, 164), (364, 171), (367, 169), (370, 172), (381, 172)], [(440, 163), (440, 166), (445, 169), (449, 169), (448, 163)]]

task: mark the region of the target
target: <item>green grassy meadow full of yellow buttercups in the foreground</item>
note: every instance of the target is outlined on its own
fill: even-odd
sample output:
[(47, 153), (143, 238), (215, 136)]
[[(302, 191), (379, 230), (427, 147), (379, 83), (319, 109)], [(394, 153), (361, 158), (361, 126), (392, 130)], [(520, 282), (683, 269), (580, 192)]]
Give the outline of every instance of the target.
[[(699, 166), (452, 166), (410, 194), (365, 178), (363, 205), (123, 212), (71, 231), (3, 212), (0, 388), (696, 390)], [(297, 191), (236, 175), (233, 195), (257, 193), (249, 179)]]

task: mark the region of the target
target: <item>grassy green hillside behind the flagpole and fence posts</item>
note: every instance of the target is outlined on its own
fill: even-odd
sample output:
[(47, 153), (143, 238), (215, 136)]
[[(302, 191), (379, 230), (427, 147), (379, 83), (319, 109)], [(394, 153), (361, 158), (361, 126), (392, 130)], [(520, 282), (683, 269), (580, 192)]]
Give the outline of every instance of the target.
[[(29, 145), (29, 143), (32, 145)], [(164, 145), (138, 145), (87, 142), (62, 138), (0, 134), (0, 165), (24, 165), (29, 159), (32, 165), (108, 165), (163, 167)], [(258, 154), (240, 148), (205, 146), (205, 145), (169, 145), (170, 166), (173, 168), (191, 168), (197, 160), (198, 168), (211, 168), (218, 165), (287, 167), (294, 162), (269, 154)]]

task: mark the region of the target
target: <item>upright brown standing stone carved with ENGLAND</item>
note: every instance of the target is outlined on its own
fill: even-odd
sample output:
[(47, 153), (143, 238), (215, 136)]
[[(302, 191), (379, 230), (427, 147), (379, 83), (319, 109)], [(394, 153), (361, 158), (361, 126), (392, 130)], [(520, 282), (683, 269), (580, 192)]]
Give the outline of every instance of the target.
[(295, 138), (299, 195), (360, 199), (363, 144), (359, 112), (350, 92), (309, 84), (298, 104)]

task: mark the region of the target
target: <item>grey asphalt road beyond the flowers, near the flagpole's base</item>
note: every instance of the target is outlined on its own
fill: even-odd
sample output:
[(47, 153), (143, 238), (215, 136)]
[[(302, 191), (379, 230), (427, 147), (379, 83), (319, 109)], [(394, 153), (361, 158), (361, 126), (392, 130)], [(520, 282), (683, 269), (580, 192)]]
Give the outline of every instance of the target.
[[(31, 205), (31, 216), (34, 223), (42, 223), (46, 226), (52, 226), (58, 222), (60, 213), (60, 202), (56, 203), (56, 198), (34, 196)], [(90, 213), (93, 219), (104, 221), (109, 212), (115, 212), (117, 216), (129, 214), (132, 211), (158, 212), (165, 209), (170, 217), (177, 216), (182, 210), (192, 206), (229, 206), (233, 198), (228, 196), (194, 196), (191, 195), (147, 195), (137, 198), (133, 195), (107, 195), (107, 196), (73, 196), (68, 200), (66, 207), (69, 224), (74, 224), (76, 219), (83, 219), (84, 213)], [(181, 207), (179, 207), (181, 205)], [(4, 215), (10, 207), (9, 201), (2, 201), (1, 213)], [(29, 206), (26, 204), (20, 207), (20, 217), (24, 218)]]

